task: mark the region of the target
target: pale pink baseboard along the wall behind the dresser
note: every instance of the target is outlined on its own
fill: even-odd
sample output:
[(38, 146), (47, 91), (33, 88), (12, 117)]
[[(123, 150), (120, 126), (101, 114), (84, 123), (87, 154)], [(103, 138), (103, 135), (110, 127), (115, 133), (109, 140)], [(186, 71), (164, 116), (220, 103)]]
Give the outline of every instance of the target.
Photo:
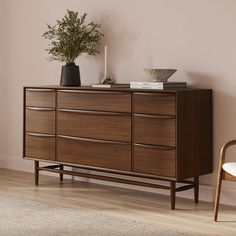
[[(33, 172), (34, 171), (33, 164), (34, 164), (33, 161), (24, 160), (21, 157), (9, 157), (9, 156), (6, 157), (3, 155), (0, 155), (0, 168)], [(52, 173), (49, 173), (46, 171), (43, 174), (44, 175), (52, 175)], [(69, 177), (69, 178), (71, 178), (71, 177)], [(87, 178), (73, 177), (73, 179), (78, 179), (80, 181), (86, 181), (86, 182), (90, 182), (90, 183), (102, 184), (102, 185), (107, 185), (107, 186), (169, 195), (168, 190), (147, 188), (147, 187), (127, 185), (127, 184), (122, 184), (122, 183), (114, 183), (114, 182), (109, 182), (109, 181), (87, 179)], [(152, 181), (150, 181), (150, 182), (152, 182)], [(214, 202), (215, 189), (216, 189), (215, 183), (214, 184), (211, 184), (211, 183), (201, 184), (201, 179), (200, 179), (199, 200), (207, 201), (207, 202)], [(188, 199), (193, 199), (193, 190), (190, 189), (190, 190), (183, 191), (183, 192), (177, 192), (176, 196), (188, 198)], [(236, 182), (223, 181), (220, 202), (223, 204), (236, 206), (235, 197), (236, 197)]]

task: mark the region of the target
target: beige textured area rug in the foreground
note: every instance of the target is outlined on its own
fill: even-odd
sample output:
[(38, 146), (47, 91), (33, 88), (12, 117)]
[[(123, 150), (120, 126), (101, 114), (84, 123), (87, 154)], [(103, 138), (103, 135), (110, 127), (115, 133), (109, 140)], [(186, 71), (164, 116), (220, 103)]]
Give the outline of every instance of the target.
[(127, 220), (95, 210), (0, 196), (1, 236), (156, 236), (185, 235), (156, 224)]

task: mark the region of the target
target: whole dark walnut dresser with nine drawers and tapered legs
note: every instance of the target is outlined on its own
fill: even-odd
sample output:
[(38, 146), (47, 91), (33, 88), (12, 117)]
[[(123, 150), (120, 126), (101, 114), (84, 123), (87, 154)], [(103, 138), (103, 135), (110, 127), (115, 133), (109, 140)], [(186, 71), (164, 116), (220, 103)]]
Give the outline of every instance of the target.
[(212, 172), (212, 91), (24, 87), (23, 145), (36, 185), (45, 170), (166, 189), (172, 209), (193, 188), (197, 203)]

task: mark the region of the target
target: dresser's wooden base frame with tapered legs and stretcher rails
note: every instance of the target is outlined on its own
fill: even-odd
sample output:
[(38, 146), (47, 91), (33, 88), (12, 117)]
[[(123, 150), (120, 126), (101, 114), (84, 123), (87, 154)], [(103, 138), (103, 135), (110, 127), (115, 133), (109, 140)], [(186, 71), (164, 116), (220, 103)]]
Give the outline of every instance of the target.
[[(198, 203), (198, 196), (199, 196), (199, 176), (196, 176), (193, 178), (193, 181), (190, 180), (174, 180), (171, 178), (161, 178), (156, 176), (149, 176), (149, 175), (142, 175), (142, 174), (135, 174), (135, 173), (126, 173), (126, 172), (118, 172), (118, 171), (112, 171), (112, 170), (97, 170), (95, 168), (90, 167), (83, 167), (83, 166), (73, 166), (73, 165), (66, 165), (66, 164), (55, 164), (55, 165), (48, 165), (48, 166), (39, 166), (39, 161), (35, 160), (35, 185), (38, 185), (39, 183), (39, 171), (49, 171), (58, 173), (60, 176), (60, 181), (63, 181), (63, 175), (72, 175), (72, 176), (79, 176), (84, 178), (91, 178), (91, 179), (98, 179), (103, 181), (111, 181), (111, 182), (117, 182), (117, 183), (124, 183), (124, 184), (132, 184), (137, 186), (143, 186), (143, 187), (150, 187), (150, 188), (159, 188), (159, 189), (165, 189), (170, 191), (170, 206), (171, 209), (175, 209), (175, 197), (176, 192), (185, 191), (188, 189), (194, 189), (194, 201), (195, 203)], [(64, 166), (67, 167), (75, 167), (78, 168), (77, 171), (74, 170), (65, 170)], [(99, 174), (90, 174), (90, 173), (84, 173), (80, 170), (95, 170), (99, 171)], [(162, 185), (162, 184), (154, 184), (154, 183), (148, 183), (145, 181), (139, 181), (139, 180), (130, 180), (130, 179), (124, 179), (119, 177), (110, 177), (102, 175), (102, 173), (109, 173), (109, 174), (119, 174), (123, 176), (131, 176), (131, 177), (138, 177), (142, 179), (154, 179), (154, 180), (161, 180), (169, 182), (169, 186)], [(181, 184), (181, 186), (177, 187), (176, 184)]]

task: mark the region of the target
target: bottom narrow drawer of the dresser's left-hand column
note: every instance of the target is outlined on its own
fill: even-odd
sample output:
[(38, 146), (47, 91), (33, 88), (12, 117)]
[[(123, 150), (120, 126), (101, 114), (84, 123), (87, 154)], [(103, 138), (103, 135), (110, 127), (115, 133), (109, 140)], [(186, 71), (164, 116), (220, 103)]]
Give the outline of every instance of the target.
[(25, 156), (45, 160), (55, 160), (55, 136), (26, 133)]

